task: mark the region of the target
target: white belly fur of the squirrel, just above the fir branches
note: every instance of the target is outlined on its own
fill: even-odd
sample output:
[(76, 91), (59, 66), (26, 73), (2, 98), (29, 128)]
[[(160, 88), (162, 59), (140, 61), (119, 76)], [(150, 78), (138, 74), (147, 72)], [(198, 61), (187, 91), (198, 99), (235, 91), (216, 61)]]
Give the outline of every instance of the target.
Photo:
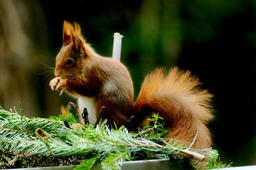
[(78, 97), (79, 113), (83, 113), (84, 108), (88, 111), (88, 119), (91, 125), (94, 125), (97, 120), (96, 103), (94, 97)]

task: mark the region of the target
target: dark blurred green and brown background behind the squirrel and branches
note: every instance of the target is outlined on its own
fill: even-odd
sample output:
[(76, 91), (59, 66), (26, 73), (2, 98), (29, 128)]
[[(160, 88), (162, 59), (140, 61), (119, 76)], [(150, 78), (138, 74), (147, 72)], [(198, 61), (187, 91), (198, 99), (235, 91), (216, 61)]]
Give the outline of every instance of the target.
[(60, 113), (74, 99), (49, 88), (63, 20), (78, 22), (95, 50), (122, 62), (136, 94), (155, 67), (179, 66), (214, 94), (214, 148), (233, 166), (256, 164), (256, 1), (0, 0), (0, 105), (20, 101), (29, 117)]

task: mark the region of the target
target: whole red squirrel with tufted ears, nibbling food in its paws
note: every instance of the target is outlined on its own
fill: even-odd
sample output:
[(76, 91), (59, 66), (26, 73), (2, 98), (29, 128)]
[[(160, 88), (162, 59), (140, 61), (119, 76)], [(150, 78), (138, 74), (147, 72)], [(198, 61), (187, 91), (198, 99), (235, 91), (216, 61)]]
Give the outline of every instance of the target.
[(79, 112), (88, 109), (90, 124), (95, 124), (100, 108), (101, 118), (117, 126), (132, 118), (135, 127), (147, 124), (152, 113), (159, 113), (170, 128), (166, 138), (176, 138), (192, 148), (211, 147), (211, 133), (206, 124), (213, 118), (212, 95), (201, 90), (200, 82), (189, 71), (177, 67), (165, 73), (156, 69), (148, 74), (134, 103), (131, 75), (121, 62), (97, 54), (81, 34), (76, 22), (63, 24), (63, 46), (56, 56), (52, 90), (77, 98)]

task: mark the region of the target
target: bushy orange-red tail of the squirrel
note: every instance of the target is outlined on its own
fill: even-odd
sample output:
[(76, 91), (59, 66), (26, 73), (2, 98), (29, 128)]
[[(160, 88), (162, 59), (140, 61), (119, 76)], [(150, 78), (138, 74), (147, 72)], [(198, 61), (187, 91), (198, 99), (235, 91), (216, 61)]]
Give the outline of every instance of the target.
[(211, 108), (212, 95), (199, 88), (200, 81), (189, 71), (180, 71), (174, 67), (165, 74), (164, 69), (156, 69), (146, 76), (133, 109), (136, 117), (147, 117), (155, 112), (164, 118), (170, 127), (166, 138), (179, 139), (190, 145), (198, 136), (192, 148), (211, 147), (211, 133), (205, 126), (213, 118)]

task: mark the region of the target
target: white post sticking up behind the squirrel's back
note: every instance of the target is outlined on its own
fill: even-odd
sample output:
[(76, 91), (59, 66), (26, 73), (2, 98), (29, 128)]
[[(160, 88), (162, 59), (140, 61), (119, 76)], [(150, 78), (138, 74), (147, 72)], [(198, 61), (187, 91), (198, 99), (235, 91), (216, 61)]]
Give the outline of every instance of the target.
[(121, 57), (121, 46), (122, 46), (122, 38), (124, 36), (122, 36), (121, 34), (119, 34), (118, 32), (115, 32), (114, 34), (114, 43), (113, 43), (113, 53), (112, 53), (112, 58), (115, 60), (119, 60), (120, 61), (120, 57)]

